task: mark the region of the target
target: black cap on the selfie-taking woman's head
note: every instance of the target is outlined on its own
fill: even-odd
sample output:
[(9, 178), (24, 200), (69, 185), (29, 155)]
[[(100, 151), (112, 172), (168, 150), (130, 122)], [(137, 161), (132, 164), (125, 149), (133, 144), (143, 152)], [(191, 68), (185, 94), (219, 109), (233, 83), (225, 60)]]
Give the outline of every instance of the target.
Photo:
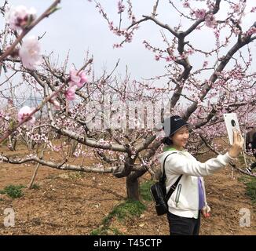
[(172, 136), (182, 126), (188, 126), (188, 122), (185, 122), (180, 116), (174, 115), (166, 118), (163, 122), (163, 129), (166, 136)]

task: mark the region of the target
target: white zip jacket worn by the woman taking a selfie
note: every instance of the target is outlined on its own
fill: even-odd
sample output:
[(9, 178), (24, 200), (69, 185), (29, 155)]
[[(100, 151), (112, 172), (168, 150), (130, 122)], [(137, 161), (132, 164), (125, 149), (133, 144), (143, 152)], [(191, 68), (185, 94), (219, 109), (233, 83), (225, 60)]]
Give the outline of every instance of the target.
[[(170, 153), (172, 153), (170, 155)], [(167, 155), (170, 155), (166, 158)], [(217, 158), (210, 158), (207, 162), (201, 163), (196, 160), (188, 151), (164, 151), (158, 156), (163, 173), (163, 162), (166, 171), (166, 191), (169, 191), (172, 184), (181, 175), (177, 188), (168, 201), (170, 213), (188, 218), (198, 218), (199, 213), (199, 187), (198, 179), (202, 180), (204, 192), (204, 206), (207, 206), (206, 192), (203, 177), (215, 173), (218, 169), (226, 166), (233, 160), (229, 153), (218, 155)]]

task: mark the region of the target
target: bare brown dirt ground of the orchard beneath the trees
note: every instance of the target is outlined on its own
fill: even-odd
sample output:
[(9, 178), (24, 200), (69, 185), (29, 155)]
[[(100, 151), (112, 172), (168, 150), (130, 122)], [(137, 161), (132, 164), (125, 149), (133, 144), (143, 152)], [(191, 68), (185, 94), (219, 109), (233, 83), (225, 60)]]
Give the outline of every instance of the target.
[[(14, 153), (13, 153), (14, 154)], [(22, 153), (21, 153), (22, 154)], [(27, 185), (35, 169), (32, 164), (0, 163), (0, 190), (9, 184)], [(255, 207), (245, 195), (239, 173), (226, 167), (207, 176), (207, 201), (212, 212), (202, 220), (201, 235), (255, 235)], [(141, 177), (141, 182), (149, 176)], [(126, 180), (111, 174), (75, 173), (40, 166), (35, 184), (24, 188), (21, 198), (0, 195), (0, 235), (90, 235), (112, 208), (126, 198)], [(124, 235), (168, 235), (166, 216), (156, 216), (152, 202), (144, 213), (112, 225)], [(13, 208), (15, 226), (4, 226), (4, 210)], [(251, 227), (240, 227), (240, 209), (249, 209)]]

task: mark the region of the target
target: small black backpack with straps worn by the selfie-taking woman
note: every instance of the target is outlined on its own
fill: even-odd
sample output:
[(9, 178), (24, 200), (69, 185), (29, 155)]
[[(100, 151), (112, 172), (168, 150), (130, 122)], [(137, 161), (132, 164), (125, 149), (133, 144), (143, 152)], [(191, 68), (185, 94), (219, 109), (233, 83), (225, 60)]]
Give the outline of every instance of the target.
[[(172, 155), (174, 153), (171, 153), (170, 155)], [(166, 156), (166, 158), (169, 155)], [(167, 195), (166, 195), (166, 172), (165, 172), (165, 162), (166, 162), (166, 158), (164, 159), (163, 162), (163, 176), (161, 176), (161, 178), (159, 179), (158, 182), (156, 182), (155, 184), (153, 184), (150, 187), (150, 192), (152, 195), (152, 199), (155, 202), (155, 210), (157, 215), (163, 215), (165, 213), (168, 212), (168, 200), (170, 198), (170, 195), (172, 195), (172, 193), (174, 192), (174, 190), (177, 187), (177, 184), (179, 183), (179, 181), (181, 180), (181, 176), (182, 174), (177, 178), (176, 182), (170, 187), (170, 190), (168, 191)]]

